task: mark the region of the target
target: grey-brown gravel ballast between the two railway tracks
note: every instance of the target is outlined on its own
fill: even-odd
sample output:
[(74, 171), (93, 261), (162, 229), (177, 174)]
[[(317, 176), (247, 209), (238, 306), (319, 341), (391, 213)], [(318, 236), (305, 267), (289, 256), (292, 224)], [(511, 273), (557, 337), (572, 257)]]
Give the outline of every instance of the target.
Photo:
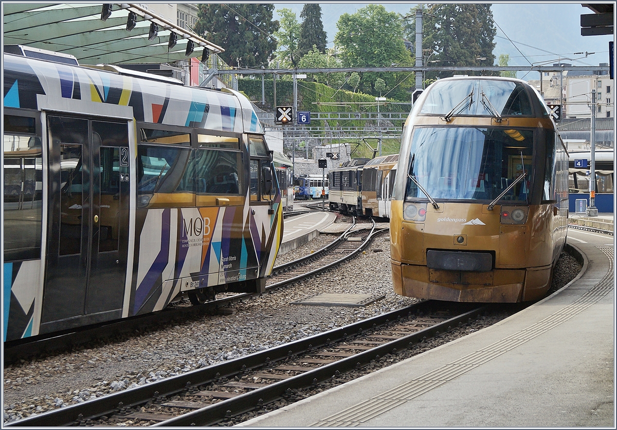
[[(336, 235), (320, 235), (281, 256), (276, 265), (288, 261), (287, 258), (296, 259), (317, 251), (334, 238)], [(580, 269), (576, 259), (566, 253), (562, 259), (564, 255), (571, 259), (566, 266), (574, 262)], [(389, 238), (378, 237), (352, 261), (304, 282), (236, 304), (225, 309), (226, 315), (202, 316), (6, 367), (4, 421), (207, 367), (408, 306), (417, 299), (398, 296), (392, 291), (389, 256)], [(578, 270), (555, 270), (553, 283), (561, 288)], [(383, 294), (384, 298), (364, 307), (289, 304), (317, 293)]]

